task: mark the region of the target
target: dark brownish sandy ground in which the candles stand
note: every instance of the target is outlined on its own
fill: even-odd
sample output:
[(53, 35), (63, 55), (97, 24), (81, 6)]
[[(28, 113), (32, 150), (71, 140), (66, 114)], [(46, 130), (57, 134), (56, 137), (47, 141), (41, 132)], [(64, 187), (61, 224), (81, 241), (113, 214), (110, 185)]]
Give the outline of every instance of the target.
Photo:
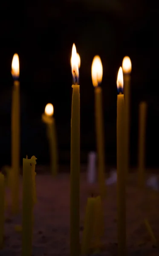
[[(33, 256), (69, 256), (69, 175), (60, 174), (56, 179), (51, 175), (36, 175), (37, 204), (35, 206), (35, 226), (33, 234)], [(96, 185), (88, 186), (86, 175), (81, 174), (81, 227), (84, 224), (84, 211), (87, 197), (98, 191)], [(14, 230), (21, 224), (21, 215), (13, 217), (9, 207), (6, 210), (5, 244), (0, 256), (21, 255), (21, 233)], [(143, 205), (143, 198), (146, 204)], [(21, 199), (20, 199), (21, 200)], [(21, 202), (20, 202), (21, 207)], [(107, 187), (104, 201), (105, 235), (104, 251), (96, 255), (117, 255), (116, 231), (116, 184)], [(159, 256), (148, 234), (144, 218), (148, 218), (154, 234), (159, 239), (159, 194), (147, 190), (143, 197), (136, 188), (136, 175), (130, 174), (127, 186), (127, 255)]]

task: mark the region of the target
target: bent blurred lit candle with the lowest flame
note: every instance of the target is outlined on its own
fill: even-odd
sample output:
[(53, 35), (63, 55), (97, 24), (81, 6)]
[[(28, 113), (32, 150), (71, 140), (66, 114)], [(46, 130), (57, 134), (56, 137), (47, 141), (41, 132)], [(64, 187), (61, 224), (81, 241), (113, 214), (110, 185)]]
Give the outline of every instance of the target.
[(47, 125), (47, 137), (49, 140), (50, 162), (51, 172), (53, 176), (58, 172), (58, 154), (57, 154), (57, 141), (56, 141), (56, 129), (55, 119), (53, 117), (54, 108), (51, 103), (48, 103), (45, 107), (45, 113), (42, 115), (43, 122)]

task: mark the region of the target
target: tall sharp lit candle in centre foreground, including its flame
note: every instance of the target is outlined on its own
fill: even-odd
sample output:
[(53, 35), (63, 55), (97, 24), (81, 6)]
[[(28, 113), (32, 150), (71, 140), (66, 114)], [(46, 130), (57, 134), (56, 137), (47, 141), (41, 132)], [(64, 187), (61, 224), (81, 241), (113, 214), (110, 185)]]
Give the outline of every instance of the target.
[(71, 112), (71, 172), (70, 172), (70, 256), (79, 250), (79, 193), (80, 193), (80, 90), (78, 60), (75, 44), (72, 47), (72, 112)]

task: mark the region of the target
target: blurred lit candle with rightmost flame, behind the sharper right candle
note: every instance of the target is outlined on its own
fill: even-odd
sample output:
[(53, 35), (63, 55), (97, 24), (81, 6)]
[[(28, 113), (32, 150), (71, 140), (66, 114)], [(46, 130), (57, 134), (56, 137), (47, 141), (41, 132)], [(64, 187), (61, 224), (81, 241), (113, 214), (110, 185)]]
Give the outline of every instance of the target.
[(125, 102), (125, 162), (126, 173), (129, 172), (130, 160), (130, 73), (131, 61), (128, 56), (123, 58), (122, 69), (124, 73), (124, 102)]

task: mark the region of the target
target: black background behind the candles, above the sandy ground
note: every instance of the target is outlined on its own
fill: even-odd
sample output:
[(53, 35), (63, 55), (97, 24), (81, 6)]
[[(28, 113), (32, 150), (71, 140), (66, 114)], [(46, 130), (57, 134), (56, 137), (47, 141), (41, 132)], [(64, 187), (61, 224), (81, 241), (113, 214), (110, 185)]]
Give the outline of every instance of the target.
[(60, 163), (70, 160), (72, 73), (75, 43), (81, 57), (81, 163), (95, 150), (94, 55), (103, 64), (103, 110), (106, 162), (116, 164), (116, 77), (122, 59), (130, 56), (131, 165), (136, 165), (138, 106), (146, 100), (148, 166), (158, 166), (159, 154), (159, 9), (153, 1), (66, 0), (3, 1), (0, 3), (0, 165), (11, 159), (11, 64), (20, 58), (21, 162), (28, 154), (49, 163), (45, 105), (54, 105)]

